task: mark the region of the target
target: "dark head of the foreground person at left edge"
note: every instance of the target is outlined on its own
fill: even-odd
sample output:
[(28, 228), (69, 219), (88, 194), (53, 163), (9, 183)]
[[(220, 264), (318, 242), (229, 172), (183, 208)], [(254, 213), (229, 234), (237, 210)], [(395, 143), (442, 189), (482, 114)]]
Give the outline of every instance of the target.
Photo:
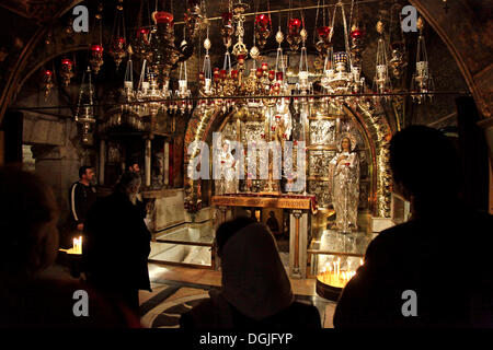
[(0, 168), (0, 273), (32, 278), (50, 266), (58, 253), (58, 207), (51, 188), (38, 176)]

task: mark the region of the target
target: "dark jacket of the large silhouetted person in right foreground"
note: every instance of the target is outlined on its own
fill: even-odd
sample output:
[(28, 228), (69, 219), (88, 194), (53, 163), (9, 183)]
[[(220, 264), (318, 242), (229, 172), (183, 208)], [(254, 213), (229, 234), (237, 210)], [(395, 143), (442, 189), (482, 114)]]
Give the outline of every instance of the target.
[[(492, 219), (436, 208), (381, 232), (344, 289), (334, 326), (493, 327)], [(416, 316), (403, 315), (412, 311), (408, 290)]]

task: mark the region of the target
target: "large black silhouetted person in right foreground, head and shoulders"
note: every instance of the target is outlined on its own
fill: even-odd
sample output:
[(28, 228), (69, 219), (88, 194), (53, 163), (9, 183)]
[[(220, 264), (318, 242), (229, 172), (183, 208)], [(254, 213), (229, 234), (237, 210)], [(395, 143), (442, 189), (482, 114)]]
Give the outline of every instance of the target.
[(390, 166), (412, 218), (369, 244), (334, 326), (493, 327), (492, 217), (461, 205), (454, 145), (412, 126), (392, 138)]

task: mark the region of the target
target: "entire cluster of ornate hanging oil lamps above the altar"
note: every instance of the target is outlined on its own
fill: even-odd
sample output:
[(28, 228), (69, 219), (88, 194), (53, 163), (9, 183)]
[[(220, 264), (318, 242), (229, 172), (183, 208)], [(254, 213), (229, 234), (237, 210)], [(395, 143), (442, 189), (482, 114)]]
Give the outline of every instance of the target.
[[(299, 16), (294, 15), (293, 0), (289, 1), (289, 12), (287, 16), (287, 27), (283, 33), (280, 27), (275, 35), (278, 44), (275, 67), (270, 67), (265, 60), (261, 59), (263, 49), (273, 33), (270, 3), (267, 11), (259, 11), (260, 1), (255, 5), (255, 16), (253, 19), (253, 45), (249, 49), (245, 43), (245, 16), (250, 9), (248, 0), (227, 0), (228, 10), (221, 14), (220, 34), (226, 48), (222, 69), (211, 68), (209, 50), (211, 42), (209, 39), (210, 21), (206, 21), (205, 1), (188, 0), (187, 9), (184, 12), (183, 39), (180, 45), (175, 45), (173, 5), (170, 1), (170, 9), (156, 9), (151, 14), (149, 0), (141, 0), (138, 14), (137, 30), (127, 39), (125, 31), (124, 0), (117, 0), (114, 27), (108, 40), (108, 55), (113, 58), (116, 67), (124, 59), (127, 59), (126, 74), (124, 80), (124, 108), (131, 110), (139, 116), (156, 117), (160, 112), (169, 114), (184, 114), (193, 109), (192, 93), (188, 88), (188, 74), (186, 60), (193, 55), (194, 40), (200, 28), (200, 24), (207, 22), (207, 37), (204, 40), (205, 57), (203, 70), (198, 74), (199, 96), (207, 97), (198, 102), (200, 109), (220, 107), (223, 112), (230, 108), (248, 106), (273, 114), (273, 117), (285, 116), (286, 106), (293, 103), (295, 110), (309, 110), (314, 104), (314, 83), (320, 83), (322, 93), (325, 96), (320, 100), (324, 102), (335, 102), (337, 104), (348, 101), (357, 101), (357, 94), (366, 93), (365, 78), (362, 75), (362, 65), (366, 31), (359, 14), (356, 0), (351, 1), (351, 13), (347, 20), (345, 3), (336, 0), (333, 5), (326, 5), (322, 0), (323, 20), (318, 23), (319, 8), (314, 23), (313, 44), (319, 51), (320, 58), (316, 60), (316, 70), (309, 66), (307, 38), (308, 33), (305, 23), (305, 9)], [(146, 8), (147, 4), (147, 8)], [(377, 101), (379, 95), (390, 96), (392, 93), (392, 79), (401, 80), (406, 67), (405, 43), (402, 31), (400, 37), (393, 37), (392, 22), (398, 18), (397, 2), (390, 8), (390, 26), (386, 31), (386, 25), (380, 19), (376, 25), (378, 33), (377, 52), (375, 58), (375, 75), (372, 79), (371, 92)], [(333, 9), (332, 13), (328, 9)], [(148, 16), (144, 15), (145, 10)], [(90, 69), (84, 73), (96, 74), (103, 60), (103, 31), (102, 31), (103, 5), (100, 3), (95, 14), (93, 38), (90, 46)], [(394, 15), (397, 13), (397, 15)], [(280, 16), (280, 12), (279, 12)], [(152, 22), (151, 22), (152, 20)], [(400, 21), (399, 19), (398, 21)], [(145, 23), (147, 22), (147, 23)], [(339, 25), (341, 23), (342, 25)], [(337, 27), (336, 27), (337, 24)], [(341, 28), (342, 26), (342, 28)], [(417, 102), (424, 101), (434, 90), (433, 79), (428, 69), (428, 58), (426, 55), (425, 40), (423, 35), (424, 24), (419, 20), (420, 37), (416, 54), (416, 70), (412, 79), (411, 91), (415, 92)], [(334, 50), (334, 34), (343, 31), (344, 48)], [(386, 33), (388, 36), (386, 36)], [(399, 33), (399, 32), (398, 32)], [(337, 33), (339, 34), (339, 33)], [(341, 35), (340, 35), (341, 36)], [(188, 44), (188, 42), (192, 42)], [(299, 70), (296, 74), (290, 74), (289, 84), (286, 74), (286, 56), (283, 51), (283, 43), (287, 43), (293, 51), (299, 52)], [(252, 58), (252, 66), (246, 69), (246, 58)], [(231, 65), (232, 57), (236, 65)], [(138, 60), (140, 75), (135, 86), (134, 82), (134, 60)], [(323, 65), (322, 65), (323, 62)], [(73, 60), (64, 58), (61, 61), (60, 78), (62, 84), (67, 86), (73, 78)], [(257, 67), (259, 66), (259, 67)], [(170, 72), (180, 70), (177, 89), (170, 88)], [(320, 72), (321, 71), (321, 72)], [(293, 78), (297, 80), (293, 81)], [(295, 79), (296, 79), (295, 78)], [(53, 86), (53, 73), (45, 72), (44, 88), (49, 93)], [(83, 83), (87, 84), (87, 83)], [(398, 84), (395, 84), (398, 85)], [(83, 90), (93, 88), (81, 88)], [(88, 94), (84, 92), (84, 94)], [(343, 96), (341, 96), (343, 95)], [(241, 96), (242, 98), (234, 98)], [(250, 97), (252, 96), (252, 97)], [(280, 97), (284, 96), (284, 97)], [(93, 98), (93, 96), (91, 97)], [(87, 104), (79, 98), (79, 108), (76, 119), (83, 126), (84, 130), (94, 119), (93, 110), (85, 109)], [(371, 98), (366, 98), (371, 101)], [(79, 110), (80, 109), (80, 110)], [(283, 112), (284, 110), (284, 112)], [(83, 113), (83, 115), (80, 115)], [(82, 120), (82, 121), (81, 121)], [(84, 131), (85, 133), (89, 131)], [(88, 139), (85, 137), (85, 139)]]

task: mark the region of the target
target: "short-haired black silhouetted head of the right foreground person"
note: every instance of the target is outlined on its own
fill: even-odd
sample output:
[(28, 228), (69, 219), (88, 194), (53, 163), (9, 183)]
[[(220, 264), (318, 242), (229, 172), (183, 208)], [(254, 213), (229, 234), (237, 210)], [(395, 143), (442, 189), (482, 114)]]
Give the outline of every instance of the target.
[(390, 167), (394, 190), (416, 210), (458, 198), (459, 158), (454, 144), (436, 129), (411, 126), (397, 132), (390, 141)]

